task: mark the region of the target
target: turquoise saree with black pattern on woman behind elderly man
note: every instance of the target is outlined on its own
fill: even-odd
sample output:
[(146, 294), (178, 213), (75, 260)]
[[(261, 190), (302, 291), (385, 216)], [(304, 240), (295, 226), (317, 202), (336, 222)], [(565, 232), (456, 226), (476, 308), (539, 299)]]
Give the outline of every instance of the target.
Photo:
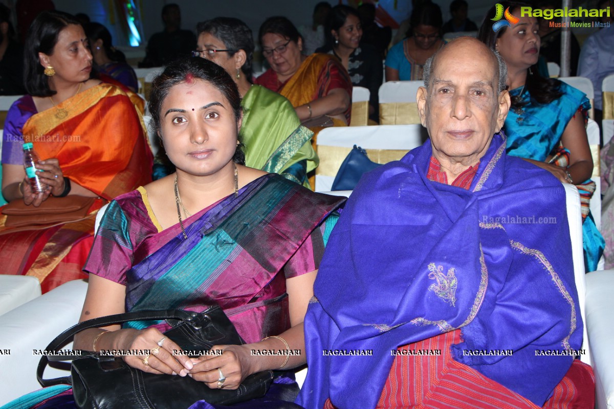
[[(519, 98), (524, 105), (510, 109), (505, 119), (509, 155), (545, 162), (548, 156), (556, 156), (559, 153), (561, 136), (575, 115), (581, 114), (585, 121), (588, 120), (591, 104), (586, 95), (564, 82), (559, 81), (559, 87), (561, 97), (543, 105), (532, 100), (529, 91), (524, 88), (510, 91), (510, 97)], [(586, 212), (593, 196), (594, 183), (589, 179), (577, 185), (577, 188), (580, 191), (583, 212)], [(583, 215), (582, 239), (586, 271), (589, 272), (597, 269), (605, 240), (597, 229), (593, 216), (586, 213), (588, 217)]]

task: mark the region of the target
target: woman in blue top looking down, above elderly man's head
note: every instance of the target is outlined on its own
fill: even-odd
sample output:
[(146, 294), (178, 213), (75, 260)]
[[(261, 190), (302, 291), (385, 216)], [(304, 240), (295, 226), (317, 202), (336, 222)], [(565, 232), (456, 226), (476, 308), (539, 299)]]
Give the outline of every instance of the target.
[(390, 49), (386, 56), (386, 81), (414, 81), (422, 79), (426, 60), (446, 42), (441, 39), (441, 9), (425, 2), (411, 12), (410, 29), (406, 39)]

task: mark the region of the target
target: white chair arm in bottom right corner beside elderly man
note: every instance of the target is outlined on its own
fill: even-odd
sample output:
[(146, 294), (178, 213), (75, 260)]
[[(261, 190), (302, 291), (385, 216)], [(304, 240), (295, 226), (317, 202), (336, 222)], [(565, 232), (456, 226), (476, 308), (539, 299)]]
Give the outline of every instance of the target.
[(586, 274), (586, 323), (593, 354), (597, 409), (614, 408), (614, 271)]

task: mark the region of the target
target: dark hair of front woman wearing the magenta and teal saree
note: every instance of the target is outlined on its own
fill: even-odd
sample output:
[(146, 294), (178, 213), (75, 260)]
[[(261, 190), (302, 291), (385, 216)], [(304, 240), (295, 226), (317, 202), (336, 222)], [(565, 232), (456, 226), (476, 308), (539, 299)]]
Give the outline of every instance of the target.
[[(168, 93), (173, 86), (192, 80), (203, 80), (214, 86), (230, 102), (230, 107), (235, 114), (236, 121), (238, 122), (239, 118), (241, 118), (241, 95), (236, 83), (225, 69), (206, 58), (189, 57), (177, 59), (173, 63), (168, 64), (162, 74), (155, 77), (152, 82), (147, 109), (152, 117), (149, 126), (158, 137), (161, 137), (160, 117), (162, 104), (166, 97), (168, 97)], [(237, 135), (237, 137), (239, 136)], [(241, 142), (240, 139), (239, 142)], [(238, 164), (245, 164), (243, 143), (239, 143), (237, 146), (233, 161)]]

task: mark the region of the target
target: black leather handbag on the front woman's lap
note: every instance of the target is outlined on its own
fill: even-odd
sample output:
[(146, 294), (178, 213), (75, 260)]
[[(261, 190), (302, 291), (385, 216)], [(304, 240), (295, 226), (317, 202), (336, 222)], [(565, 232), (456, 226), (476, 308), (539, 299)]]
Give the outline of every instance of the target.
[[(245, 342), (219, 306), (202, 313), (183, 310), (144, 311), (109, 315), (79, 323), (56, 337), (46, 348), (59, 351), (77, 332), (127, 321), (166, 319), (173, 328), (164, 333), (184, 351), (210, 350), (213, 345), (242, 345)], [(82, 351), (82, 356), (42, 356), (36, 376), (46, 386), (72, 384), (77, 407), (115, 408), (188, 408), (198, 400), (231, 404), (262, 397), (273, 381), (273, 372), (263, 371), (245, 378), (236, 390), (210, 389), (190, 377), (157, 375), (127, 365), (122, 357)], [(49, 361), (72, 360), (71, 376), (42, 379)]]

